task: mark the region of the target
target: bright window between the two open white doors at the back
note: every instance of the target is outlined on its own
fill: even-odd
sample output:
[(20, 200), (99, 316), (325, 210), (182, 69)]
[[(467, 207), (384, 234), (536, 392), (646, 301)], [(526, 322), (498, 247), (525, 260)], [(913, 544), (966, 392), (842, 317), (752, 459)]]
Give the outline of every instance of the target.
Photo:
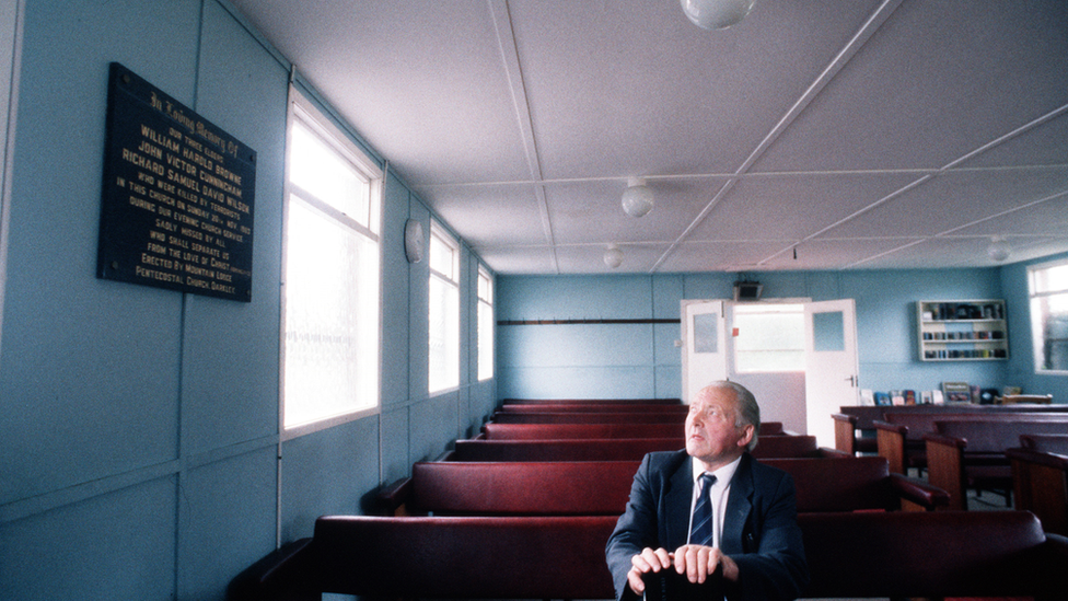
[(733, 305), (734, 371), (804, 371), (804, 305)]

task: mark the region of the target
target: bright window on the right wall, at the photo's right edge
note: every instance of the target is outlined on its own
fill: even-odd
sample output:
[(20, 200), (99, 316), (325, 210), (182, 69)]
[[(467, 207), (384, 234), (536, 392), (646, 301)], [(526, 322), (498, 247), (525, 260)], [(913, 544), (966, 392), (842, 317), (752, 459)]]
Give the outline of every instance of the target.
[(1035, 372), (1068, 372), (1068, 261), (1028, 267)]

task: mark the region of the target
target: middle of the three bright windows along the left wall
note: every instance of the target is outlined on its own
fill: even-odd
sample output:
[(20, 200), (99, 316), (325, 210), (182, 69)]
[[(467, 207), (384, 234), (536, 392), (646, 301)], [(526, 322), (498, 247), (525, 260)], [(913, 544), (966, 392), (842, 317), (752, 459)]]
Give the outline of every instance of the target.
[(460, 245), (430, 222), (430, 392), (460, 385)]

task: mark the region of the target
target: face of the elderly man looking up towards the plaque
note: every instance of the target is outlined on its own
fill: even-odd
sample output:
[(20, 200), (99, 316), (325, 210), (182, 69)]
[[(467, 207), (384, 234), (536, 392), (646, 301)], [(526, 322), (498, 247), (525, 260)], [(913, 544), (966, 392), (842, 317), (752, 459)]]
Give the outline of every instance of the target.
[(733, 390), (701, 390), (686, 415), (686, 452), (712, 467), (734, 461), (753, 436), (753, 426), (734, 426), (736, 416)]

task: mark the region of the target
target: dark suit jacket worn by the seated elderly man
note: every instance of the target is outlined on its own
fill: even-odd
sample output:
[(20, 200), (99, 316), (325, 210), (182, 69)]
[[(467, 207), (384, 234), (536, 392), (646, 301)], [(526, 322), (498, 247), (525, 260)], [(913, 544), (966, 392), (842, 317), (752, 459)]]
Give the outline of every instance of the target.
[[(686, 451), (649, 453), (635, 474), (630, 501), (608, 539), (605, 555), (617, 599), (634, 599), (630, 557), (645, 547), (674, 552), (686, 544), (694, 495)], [(796, 599), (809, 573), (798, 527), (793, 479), (745, 453), (731, 481), (720, 550), (738, 564), (734, 600)], [(672, 568), (674, 569), (674, 568)]]

